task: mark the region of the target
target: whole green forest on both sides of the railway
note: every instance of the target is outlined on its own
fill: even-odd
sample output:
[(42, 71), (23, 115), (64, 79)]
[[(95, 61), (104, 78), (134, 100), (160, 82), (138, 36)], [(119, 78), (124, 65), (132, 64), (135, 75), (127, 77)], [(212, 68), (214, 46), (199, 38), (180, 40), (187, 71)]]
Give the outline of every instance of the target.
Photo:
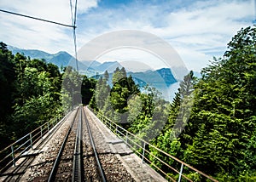
[[(95, 80), (72, 67), (60, 70), (44, 60), (14, 55), (1, 43), (1, 148), (82, 102), (215, 179), (255, 181), (256, 27), (238, 31), (201, 76), (190, 71), (169, 103), (155, 88), (139, 88), (125, 68), (117, 68), (111, 81), (108, 71)], [(201, 181), (197, 173), (189, 175)]]

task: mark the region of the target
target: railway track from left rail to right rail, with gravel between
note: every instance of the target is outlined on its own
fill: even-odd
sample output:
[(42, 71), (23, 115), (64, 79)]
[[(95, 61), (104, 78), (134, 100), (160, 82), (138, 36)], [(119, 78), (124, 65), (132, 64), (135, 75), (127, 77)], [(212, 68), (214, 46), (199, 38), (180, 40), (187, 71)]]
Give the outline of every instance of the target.
[[(86, 147), (85, 150), (83, 149), (83, 128), (90, 139), (90, 146)], [(84, 153), (86, 155), (83, 155)], [(88, 156), (88, 154), (90, 156), (84, 160), (84, 156)], [(97, 155), (96, 145), (90, 131), (90, 124), (87, 117), (85, 117), (83, 107), (80, 107), (62, 142), (48, 181), (84, 181), (84, 179), (107, 181)]]

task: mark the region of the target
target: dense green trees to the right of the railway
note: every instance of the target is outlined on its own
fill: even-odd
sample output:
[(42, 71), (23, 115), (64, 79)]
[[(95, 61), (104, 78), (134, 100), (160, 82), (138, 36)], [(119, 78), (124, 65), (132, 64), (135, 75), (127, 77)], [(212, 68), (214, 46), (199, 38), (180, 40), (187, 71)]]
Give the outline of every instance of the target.
[[(154, 88), (141, 92), (132, 78), (126, 77), (125, 69), (114, 71), (110, 88), (105, 72), (96, 83), (90, 106), (220, 181), (255, 181), (256, 28), (238, 31), (224, 56), (213, 58), (201, 75), (196, 78), (190, 71), (168, 104)], [(154, 148), (149, 150), (180, 168)], [(204, 180), (199, 173), (184, 173), (196, 181)]]

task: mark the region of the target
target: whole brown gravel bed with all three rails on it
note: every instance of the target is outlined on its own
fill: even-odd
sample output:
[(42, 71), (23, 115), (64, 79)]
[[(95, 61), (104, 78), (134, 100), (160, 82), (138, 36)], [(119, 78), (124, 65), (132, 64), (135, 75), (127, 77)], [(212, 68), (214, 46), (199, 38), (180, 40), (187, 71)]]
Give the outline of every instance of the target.
[(24, 181), (134, 181), (80, 106), (47, 141), (20, 178)]

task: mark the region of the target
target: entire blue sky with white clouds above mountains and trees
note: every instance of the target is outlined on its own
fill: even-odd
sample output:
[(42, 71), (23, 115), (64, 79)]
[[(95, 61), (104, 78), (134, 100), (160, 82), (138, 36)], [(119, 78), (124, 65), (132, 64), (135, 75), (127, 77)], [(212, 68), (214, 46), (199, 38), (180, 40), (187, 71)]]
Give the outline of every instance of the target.
[[(5, 0), (0, 7), (71, 24), (69, 0)], [(189, 70), (200, 71), (212, 56), (224, 53), (226, 44), (241, 27), (253, 25), (254, 7), (253, 0), (78, 0), (78, 48), (111, 31), (145, 31), (172, 45)], [(3, 13), (0, 26), (0, 40), (4, 43), (74, 54), (72, 30), (67, 27)], [(153, 62), (157, 60), (153, 57), (125, 49), (109, 52), (99, 60), (144, 59), (150, 60), (149, 67), (155, 67)]]

